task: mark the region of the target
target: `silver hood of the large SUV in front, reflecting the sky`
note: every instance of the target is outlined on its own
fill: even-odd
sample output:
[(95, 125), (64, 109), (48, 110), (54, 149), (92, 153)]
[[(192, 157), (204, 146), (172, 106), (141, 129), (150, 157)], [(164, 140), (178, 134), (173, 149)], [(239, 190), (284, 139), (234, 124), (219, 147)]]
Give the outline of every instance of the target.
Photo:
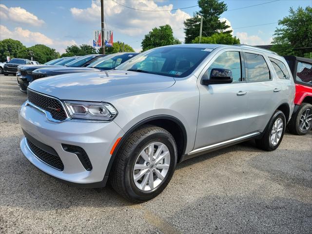
[(168, 88), (174, 83), (172, 77), (111, 70), (41, 78), (28, 87), (62, 100), (103, 101), (116, 95)]

